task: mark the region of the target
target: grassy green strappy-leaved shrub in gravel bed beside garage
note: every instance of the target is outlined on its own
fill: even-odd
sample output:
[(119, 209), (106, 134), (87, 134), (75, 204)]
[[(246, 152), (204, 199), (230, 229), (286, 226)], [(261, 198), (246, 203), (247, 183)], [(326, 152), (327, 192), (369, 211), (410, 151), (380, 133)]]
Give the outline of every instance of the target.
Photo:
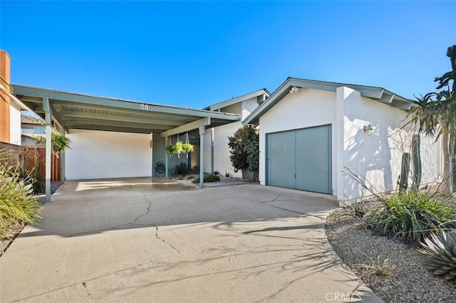
[(367, 220), (373, 233), (418, 245), (432, 231), (456, 227), (456, 208), (423, 193), (403, 193), (382, 203)]

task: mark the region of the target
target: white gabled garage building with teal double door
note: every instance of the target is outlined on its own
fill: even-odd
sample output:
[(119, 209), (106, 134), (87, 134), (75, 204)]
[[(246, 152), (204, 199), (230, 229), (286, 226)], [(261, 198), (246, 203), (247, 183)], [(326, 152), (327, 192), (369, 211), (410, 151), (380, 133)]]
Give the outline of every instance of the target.
[[(413, 102), (382, 87), (288, 78), (242, 124), (259, 125), (259, 181), (351, 201), (393, 191), (413, 131)], [(440, 144), (421, 138), (422, 184), (441, 175)]]

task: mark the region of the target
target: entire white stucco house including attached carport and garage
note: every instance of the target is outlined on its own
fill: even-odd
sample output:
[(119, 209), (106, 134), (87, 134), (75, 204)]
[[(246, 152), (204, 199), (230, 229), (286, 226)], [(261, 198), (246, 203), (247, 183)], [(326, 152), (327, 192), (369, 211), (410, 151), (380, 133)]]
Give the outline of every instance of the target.
[[(377, 191), (395, 190), (413, 134), (403, 129), (413, 102), (382, 87), (288, 78), (273, 93), (257, 90), (203, 110), (12, 87), (15, 99), (46, 119), (46, 136), (56, 124), (73, 142), (62, 154), (66, 179), (167, 177), (180, 163), (199, 171), (201, 180), (213, 171), (242, 176), (229, 160), (228, 137), (254, 124), (262, 185), (327, 193), (343, 205), (368, 194), (348, 171)], [(195, 144), (188, 157), (165, 153), (178, 138)], [(420, 144), (421, 184), (438, 181), (440, 142), (422, 137)]]

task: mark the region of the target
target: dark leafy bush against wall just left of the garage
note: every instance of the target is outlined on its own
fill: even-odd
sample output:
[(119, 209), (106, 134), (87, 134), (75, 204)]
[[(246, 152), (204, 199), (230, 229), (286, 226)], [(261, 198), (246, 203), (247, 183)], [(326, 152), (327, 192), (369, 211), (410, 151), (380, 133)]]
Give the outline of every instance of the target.
[(248, 169), (258, 173), (259, 167), (259, 134), (252, 124), (237, 129), (234, 136), (228, 137), (229, 159), (234, 171)]

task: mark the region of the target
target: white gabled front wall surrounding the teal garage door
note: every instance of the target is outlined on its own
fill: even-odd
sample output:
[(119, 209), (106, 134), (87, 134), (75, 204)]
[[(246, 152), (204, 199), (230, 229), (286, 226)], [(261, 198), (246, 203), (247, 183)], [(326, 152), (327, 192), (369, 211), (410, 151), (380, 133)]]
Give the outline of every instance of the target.
[(336, 186), (336, 93), (301, 88), (286, 95), (259, 118), (259, 181), (266, 184), (266, 134), (331, 124), (332, 186)]

